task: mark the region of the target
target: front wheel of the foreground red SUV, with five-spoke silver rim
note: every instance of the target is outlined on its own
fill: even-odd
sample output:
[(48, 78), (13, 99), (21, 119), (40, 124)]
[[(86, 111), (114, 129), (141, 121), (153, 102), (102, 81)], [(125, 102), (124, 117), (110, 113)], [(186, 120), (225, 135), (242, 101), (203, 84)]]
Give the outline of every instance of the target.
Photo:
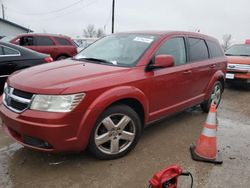
[(138, 114), (127, 105), (114, 105), (98, 118), (88, 148), (98, 159), (117, 159), (136, 146), (141, 132)]

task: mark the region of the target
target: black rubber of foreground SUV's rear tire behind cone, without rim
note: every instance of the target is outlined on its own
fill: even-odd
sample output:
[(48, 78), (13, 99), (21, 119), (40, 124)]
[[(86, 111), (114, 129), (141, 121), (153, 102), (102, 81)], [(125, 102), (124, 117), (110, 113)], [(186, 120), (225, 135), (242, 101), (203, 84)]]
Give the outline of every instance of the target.
[(210, 109), (210, 105), (212, 103), (212, 96), (213, 96), (213, 93), (215, 92), (216, 88), (219, 88), (220, 90), (220, 96), (219, 96), (219, 99), (218, 101), (216, 102), (216, 107), (219, 106), (220, 104), (220, 101), (221, 101), (221, 96), (222, 96), (222, 91), (223, 91), (223, 88), (222, 88), (222, 84), (220, 81), (216, 81), (214, 86), (213, 86), (213, 90), (212, 92), (210, 93), (210, 96), (209, 96), (209, 99), (208, 100), (205, 100), (203, 103), (201, 103), (201, 109), (203, 112), (209, 112), (209, 109)]

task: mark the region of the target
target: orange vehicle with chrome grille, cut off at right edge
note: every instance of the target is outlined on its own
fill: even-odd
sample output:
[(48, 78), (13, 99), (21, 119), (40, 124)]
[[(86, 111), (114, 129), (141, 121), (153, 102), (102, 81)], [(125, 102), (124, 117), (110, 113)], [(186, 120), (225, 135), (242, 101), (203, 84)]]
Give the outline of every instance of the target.
[(250, 45), (233, 45), (225, 54), (228, 57), (227, 82), (250, 85)]

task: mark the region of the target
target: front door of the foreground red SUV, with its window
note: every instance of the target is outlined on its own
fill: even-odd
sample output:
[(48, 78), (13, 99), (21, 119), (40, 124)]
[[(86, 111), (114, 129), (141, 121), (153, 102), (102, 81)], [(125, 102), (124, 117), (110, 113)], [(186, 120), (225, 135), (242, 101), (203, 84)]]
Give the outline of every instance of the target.
[(166, 39), (155, 55), (172, 55), (174, 66), (155, 69), (149, 72), (150, 84), (150, 119), (164, 114), (174, 113), (188, 105), (193, 97), (191, 65), (187, 64), (187, 52), (184, 36)]

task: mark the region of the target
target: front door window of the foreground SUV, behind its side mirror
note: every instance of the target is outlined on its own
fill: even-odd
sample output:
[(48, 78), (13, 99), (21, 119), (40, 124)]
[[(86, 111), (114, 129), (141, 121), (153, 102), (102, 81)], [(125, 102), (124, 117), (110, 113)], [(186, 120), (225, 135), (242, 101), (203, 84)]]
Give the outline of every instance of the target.
[(167, 40), (156, 52), (156, 55), (172, 55), (175, 65), (186, 63), (186, 48), (182, 37)]

